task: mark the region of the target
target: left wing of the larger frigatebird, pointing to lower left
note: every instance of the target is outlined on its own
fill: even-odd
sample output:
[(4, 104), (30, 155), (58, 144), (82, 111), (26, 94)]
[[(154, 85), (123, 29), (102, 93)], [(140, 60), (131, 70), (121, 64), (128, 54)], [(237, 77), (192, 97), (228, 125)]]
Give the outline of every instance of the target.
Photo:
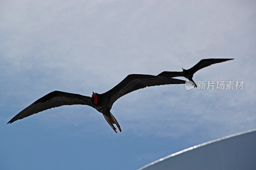
[[(46, 94), (44, 97), (36, 100), (34, 103), (23, 109), (20, 113), (14, 116), (8, 123), (12, 123), (24, 117), (42, 112), (44, 110), (59, 107), (64, 105), (88, 105), (92, 106), (90, 97), (80, 94), (54, 91)], [(7, 123), (7, 124), (8, 124)]]

